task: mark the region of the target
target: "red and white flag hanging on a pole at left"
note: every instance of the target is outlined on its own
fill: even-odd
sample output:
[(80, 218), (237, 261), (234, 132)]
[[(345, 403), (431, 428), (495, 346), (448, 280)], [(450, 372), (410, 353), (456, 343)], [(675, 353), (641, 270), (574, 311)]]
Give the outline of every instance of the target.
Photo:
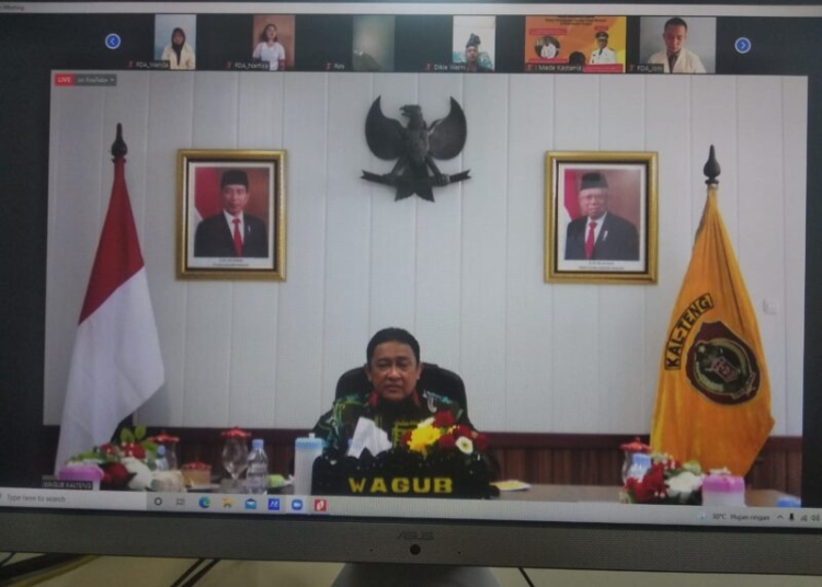
[(117, 424), (164, 381), (125, 160), (114, 184), (75, 339), (56, 468), (111, 440)]

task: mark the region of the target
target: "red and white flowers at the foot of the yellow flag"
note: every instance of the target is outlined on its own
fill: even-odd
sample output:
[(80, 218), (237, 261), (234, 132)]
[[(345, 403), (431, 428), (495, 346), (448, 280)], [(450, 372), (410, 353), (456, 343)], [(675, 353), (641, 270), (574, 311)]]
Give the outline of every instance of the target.
[(699, 463), (680, 463), (669, 454), (651, 454), (651, 467), (641, 479), (628, 477), (619, 494), (626, 504), (701, 503), (703, 471)]

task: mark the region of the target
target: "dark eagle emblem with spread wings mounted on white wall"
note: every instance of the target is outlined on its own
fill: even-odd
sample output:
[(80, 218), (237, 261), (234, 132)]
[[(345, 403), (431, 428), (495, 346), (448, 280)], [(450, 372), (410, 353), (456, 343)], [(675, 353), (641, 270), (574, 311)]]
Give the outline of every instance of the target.
[(465, 113), (456, 100), (450, 99), (450, 112), (431, 125), (422, 117), (422, 108), (407, 105), (400, 108), (408, 117), (408, 126), (383, 114), (379, 97), (374, 101), (365, 119), (365, 139), (368, 148), (380, 159), (397, 163), (389, 173), (363, 171), (363, 180), (397, 187), (397, 197), (403, 199), (416, 194), (434, 202), (434, 186), (468, 180), (470, 170), (448, 175), (439, 171), (434, 159), (457, 157), (468, 135)]

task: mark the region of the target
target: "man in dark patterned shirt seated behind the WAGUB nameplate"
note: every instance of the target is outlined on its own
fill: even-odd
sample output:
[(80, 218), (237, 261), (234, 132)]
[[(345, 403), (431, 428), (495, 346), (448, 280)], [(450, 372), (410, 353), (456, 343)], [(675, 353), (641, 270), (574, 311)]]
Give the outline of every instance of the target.
[[(450, 412), (457, 424), (471, 426), (463, 406), (430, 391), (419, 391), (422, 372), (420, 343), (402, 329), (384, 329), (368, 342), (365, 372), (373, 390), (367, 395), (336, 400), (313, 427), (333, 457), (347, 452), (359, 418), (385, 430), (393, 446), (402, 435), (437, 412)], [(473, 428), (473, 426), (471, 426)]]

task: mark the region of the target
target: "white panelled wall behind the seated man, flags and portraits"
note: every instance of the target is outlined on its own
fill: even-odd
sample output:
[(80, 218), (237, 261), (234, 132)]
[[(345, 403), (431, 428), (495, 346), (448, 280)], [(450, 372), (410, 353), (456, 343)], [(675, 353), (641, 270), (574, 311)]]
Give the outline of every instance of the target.
[[(777, 77), (117, 72), (54, 88), (46, 424), (58, 424), (77, 316), (112, 182), (115, 125), (160, 331), (156, 426), (308, 428), (378, 329), (463, 375), (484, 430), (649, 430), (672, 304), (717, 147), (720, 208), (758, 312), (776, 435), (801, 434), (807, 80)], [(471, 179), (393, 202), (365, 115), (465, 108), (441, 169)], [(287, 280), (175, 278), (178, 149), (287, 151)], [(546, 284), (548, 150), (659, 152), (659, 283)], [(773, 300), (774, 314), (763, 303)]]

